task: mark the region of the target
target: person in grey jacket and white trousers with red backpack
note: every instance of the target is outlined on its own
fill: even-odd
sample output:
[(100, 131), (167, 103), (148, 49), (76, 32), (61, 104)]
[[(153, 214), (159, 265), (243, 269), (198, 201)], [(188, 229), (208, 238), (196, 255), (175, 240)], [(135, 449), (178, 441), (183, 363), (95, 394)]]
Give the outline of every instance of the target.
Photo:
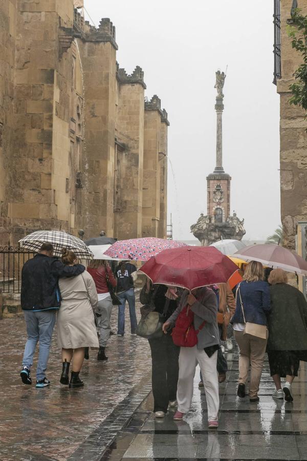
[(208, 427), (218, 427), (218, 379), (216, 371), (220, 334), (217, 326), (217, 300), (207, 287), (185, 290), (181, 302), (164, 323), (166, 333), (173, 328), (172, 338), (180, 345), (179, 379), (177, 386), (178, 411), (173, 419), (181, 421), (188, 413), (192, 396), (196, 365), (199, 363), (204, 380), (208, 407)]

